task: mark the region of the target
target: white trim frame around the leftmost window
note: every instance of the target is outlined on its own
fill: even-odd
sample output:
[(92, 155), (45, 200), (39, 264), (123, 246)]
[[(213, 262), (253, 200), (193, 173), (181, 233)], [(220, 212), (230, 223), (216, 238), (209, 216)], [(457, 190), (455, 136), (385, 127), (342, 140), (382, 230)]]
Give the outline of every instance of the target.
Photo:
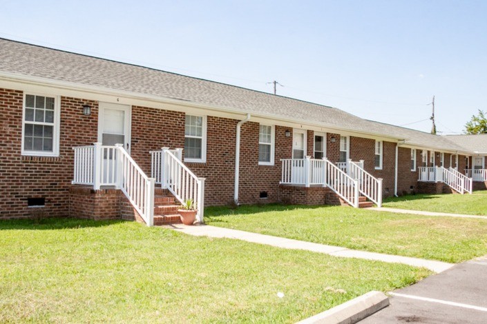
[[(52, 128), (52, 152), (44, 151), (30, 151), (23, 149), (23, 141), (25, 137), (26, 129), (26, 95), (54, 98), (54, 126)], [(36, 93), (36, 92), (23, 92), (22, 100), (22, 140), (21, 140), (21, 155), (25, 156), (59, 156), (59, 124), (61, 119), (61, 97), (54, 94)]]

